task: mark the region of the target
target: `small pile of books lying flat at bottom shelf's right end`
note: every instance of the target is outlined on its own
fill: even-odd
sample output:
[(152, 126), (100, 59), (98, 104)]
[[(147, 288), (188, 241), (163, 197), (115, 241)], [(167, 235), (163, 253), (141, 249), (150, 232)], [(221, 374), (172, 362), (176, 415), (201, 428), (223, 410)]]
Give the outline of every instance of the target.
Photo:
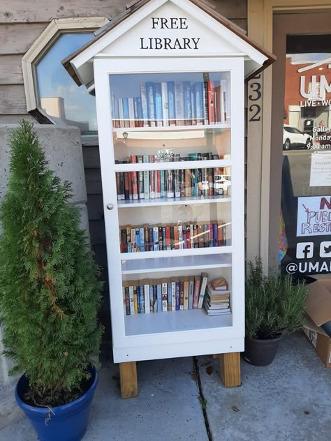
[(207, 284), (203, 310), (208, 315), (230, 314), (230, 291), (226, 279), (221, 277)]

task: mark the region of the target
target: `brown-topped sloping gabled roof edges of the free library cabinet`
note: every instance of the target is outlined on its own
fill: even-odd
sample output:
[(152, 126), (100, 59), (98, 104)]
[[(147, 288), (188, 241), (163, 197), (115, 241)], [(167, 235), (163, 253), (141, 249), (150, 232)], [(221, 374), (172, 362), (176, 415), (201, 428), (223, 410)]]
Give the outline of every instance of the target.
[[(112, 20), (110, 20), (110, 22), (108, 24), (106, 24), (104, 27), (102, 27), (101, 29), (98, 29), (97, 31), (94, 32), (94, 38), (92, 40), (90, 40), (88, 43), (86, 43), (85, 45), (80, 47), (80, 49), (73, 52), (73, 54), (69, 55), (64, 60), (62, 60), (62, 64), (63, 64), (64, 68), (66, 68), (69, 75), (71, 75), (73, 80), (79, 86), (82, 84), (82, 82), (80, 81), (80, 78), (78, 77), (77, 73), (75, 72), (75, 69), (73, 68), (73, 64), (72, 64), (73, 59), (78, 57), (78, 55), (82, 54), (82, 52), (84, 52), (89, 47), (91, 47), (91, 45), (94, 45), (94, 43), (96, 43), (103, 36), (105, 36), (105, 34), (107, 34), (109, 31), (111, 31), (112, 29), (117, 27), (120, 23), (122, 23), (124, 20), (126, 20), (131, 15), (133, 15), (133, 13), (140, 10), (140, 8), (142, 8), (142, 6), (145, 6), (150, 1), (152, 1), (152, 0), (138, 0), (138, 1), (131, 1), (131, 3), (128, 3), (128, 5), (126, 5), (126, 10), (124, 10), (123, 13), (117, 15), (117, 17), (114, 17)], [(251, 40), (251, 38), (249, 38), (246, 35), (245, 31), (242, 28), (238, 27), (233, 22), (230, 22), (230, 20), (228, 20), (226, 17), (224, 17), (223, 15), (218, 13), (216, 10), (214, 10), (214, 8), (212, 7), (212, 5), (210, 5), (210, 3), (209, 4), (205, 3), (205, 1), (203, 1), (203, 0), (189, 0), (189, 1), (191, 3), (193, 3), (195, 6), (197, 6), (198, 8), (200, 8), (201, 10), (203, 10), (205, 13), (210, 15), (210, 17), (214, 18), (214, 20), (216, 20), (217, 22), (222, 24), (224, 27), (226, 27), (227, 29), (232, 31), (236, 36), (239, 36), (242, 40), (244, 40), (246, 43), (251, 45), (251, 47), (258, 50), (261, 54), (263, 54), (266, 57), (266, 60), (263, 63), (263, 66), (254, 70), (253, 73), (251, 73), (251, 75), (249, 75), (249, 77), (246, 78), (247, 81), (250, 80), (251, 77), (254, 77), (261, 70), (264, 70), (265, 68), (267, 68), (267, 66), (270, 66), (270, 64), (272, 64), (277, 59), (277, 57), (275, 57), (274, 54), (272, 54), (271, 52), (268, 52), (263, 47), (258, 45), (258, 43)]]

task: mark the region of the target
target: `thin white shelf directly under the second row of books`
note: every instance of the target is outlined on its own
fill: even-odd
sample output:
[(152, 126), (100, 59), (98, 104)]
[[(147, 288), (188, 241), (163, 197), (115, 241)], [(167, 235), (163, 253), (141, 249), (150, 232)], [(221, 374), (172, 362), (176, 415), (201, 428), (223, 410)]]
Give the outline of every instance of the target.
[(189, 204), (212, 204), (219, 202), (230, 202), (231, 197), (222, 196), (191, 196), (191, 197), (165, 197), (164, 199), (140, 199), (140, 200), (118, 200), (118, 208), (151, 207), (154, 205), (189, 205)]

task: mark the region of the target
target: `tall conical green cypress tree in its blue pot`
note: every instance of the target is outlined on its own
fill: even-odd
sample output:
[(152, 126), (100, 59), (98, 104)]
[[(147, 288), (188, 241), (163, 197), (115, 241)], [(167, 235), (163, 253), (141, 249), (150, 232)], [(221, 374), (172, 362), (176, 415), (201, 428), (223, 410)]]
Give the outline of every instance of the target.
[(0, 315), (15, 396), (39, 439), (80, 440), (97, 384), (91, 355), (102, 327), (98, 268), (71, 184), (47, 170), (33, 126), (10, 136), (8, 190), (0, 207)]

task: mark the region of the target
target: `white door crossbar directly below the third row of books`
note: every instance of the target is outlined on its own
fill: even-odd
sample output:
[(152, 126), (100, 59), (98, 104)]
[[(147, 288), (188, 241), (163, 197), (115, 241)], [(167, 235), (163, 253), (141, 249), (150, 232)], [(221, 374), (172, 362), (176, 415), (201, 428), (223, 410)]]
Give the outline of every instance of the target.
[[(230, 241), (230, 239), (227, 239)], [(232, 246), (211, 246), (206, 248), (189, 248), (186, 250), (167, 250), (167, 251), (144, 251), (142, 253), (120, 253), (121, 260), (144, 260), (159, 259), (159, 257), (179, 257), (192, 255), (217, 255), (230, 254), (233, 252)]]

